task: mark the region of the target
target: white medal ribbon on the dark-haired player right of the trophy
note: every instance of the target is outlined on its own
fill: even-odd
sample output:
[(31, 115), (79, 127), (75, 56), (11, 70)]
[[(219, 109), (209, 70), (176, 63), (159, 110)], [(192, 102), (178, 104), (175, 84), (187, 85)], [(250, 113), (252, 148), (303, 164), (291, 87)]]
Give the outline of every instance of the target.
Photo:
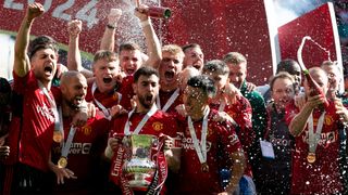
[(191, 117), (187, 117), (187, 123), (189, 133), (192, 138), (195, 151), (197, 153), (198, 159), (200, 164), (207, 162), (207, 130), (208, 130), (208, 115), (209, 115), (210, 108), (207, 107), (204, 110), (204, 117), (202, 121), (202, 132), (201, 132), (201, 140), (200, 143), (198, 143), (198, 139), (195, 132), (194, 123), (191, 120)]

